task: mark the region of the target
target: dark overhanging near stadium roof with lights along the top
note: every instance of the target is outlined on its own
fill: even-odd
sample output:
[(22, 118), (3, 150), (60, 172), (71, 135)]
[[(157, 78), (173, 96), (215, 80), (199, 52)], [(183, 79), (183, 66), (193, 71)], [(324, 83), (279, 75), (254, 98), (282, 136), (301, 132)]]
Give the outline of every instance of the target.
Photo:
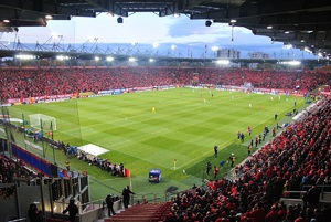
[(206, 25), (221, 22), (244, 27), (256, 35), (324, 57), (331, 52), (330, 0), (1, 0), (0, 32), (45, 27), (49, 19), (96, 17), (100, 12), (118, 17), (135, 12), (186, 14), (192, 20), (206, 20)]

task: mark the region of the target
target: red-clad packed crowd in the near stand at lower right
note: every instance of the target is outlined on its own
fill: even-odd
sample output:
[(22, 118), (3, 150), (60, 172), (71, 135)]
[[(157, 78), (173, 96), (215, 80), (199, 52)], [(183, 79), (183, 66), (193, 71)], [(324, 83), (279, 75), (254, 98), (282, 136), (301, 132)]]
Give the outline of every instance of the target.
[[(172, 200), (166, 222), (328, 222), (331, 205), (318, 205), (320, 190), (331, 186), (331, 98), (322, 99), (306, 118), (235, 167), (236, 180), (214, 180)], [(306, 187), (308, 186), (308, 187)], [(286, 205), (280, 198), (300, 198)], [(307, 191), (307, 192), (305, 192)]]

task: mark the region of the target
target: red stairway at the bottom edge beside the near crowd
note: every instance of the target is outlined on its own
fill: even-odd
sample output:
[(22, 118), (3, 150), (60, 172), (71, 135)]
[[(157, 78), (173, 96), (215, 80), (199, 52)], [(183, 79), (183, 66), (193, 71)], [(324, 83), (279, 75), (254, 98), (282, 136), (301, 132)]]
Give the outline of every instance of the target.
[(170, 212), (170, 202), (167, 203), (147, 203), (132, 205), (131, 208), (117, 213), (114, 216), (105, 219), (105, 222), (118, 221), (139, 221), (139, 222), (160, 222), (163, 221)]

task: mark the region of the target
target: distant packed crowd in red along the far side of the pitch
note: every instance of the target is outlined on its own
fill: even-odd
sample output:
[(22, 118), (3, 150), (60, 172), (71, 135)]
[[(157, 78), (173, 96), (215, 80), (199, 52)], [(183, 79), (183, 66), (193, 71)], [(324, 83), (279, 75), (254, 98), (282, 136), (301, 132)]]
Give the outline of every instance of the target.
[(322, 72), (211, 67), (4, 68), (0, 70), (0, 73), (2, 99), (162, 85), (190, 85), (196, 73), (201, 84), (241, 86), (248, 82), (254, 87), (285, 91), (293, 91), (299, 86), (303, 92), (309, 92), (321, 84), (330, 85), (331, 81), (331, 73)]

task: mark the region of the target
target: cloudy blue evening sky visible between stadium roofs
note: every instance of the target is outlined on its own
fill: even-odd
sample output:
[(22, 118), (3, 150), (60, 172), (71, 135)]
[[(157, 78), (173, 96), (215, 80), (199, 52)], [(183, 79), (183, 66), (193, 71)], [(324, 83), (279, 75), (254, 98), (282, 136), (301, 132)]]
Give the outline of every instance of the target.
[(248, 29), (234, 27), (232, 30), (224, 23), (205, 27), (205, 20), (190, 20), (183, 14), (160, 18), (154, 13), (134, 13), (124, 18), (124, 23), (117, 23), (117, 17), (107, 13), (96, 18), (73, 17), (71, 20), (49, 20), (47, 27), (19, 28), (18, 33), (0, 36), (8, 47), (19, 39), (24, 44), (85, 43), (90, 47), (108, 44), (110, 47), (117, 45), (117, 50), (140, 47), (140, 51), (150, 52), (158, 49), (159, 54), (172, 56), (213, 57), (215, 51), (212, 49), (234, 49), (242, 52), (242, 57), (248, 57), (253, 52), (268, 53), (273, 59), (312, 57), (299, 50), (284, 49), (281, 42), (273, 42), (270, 38), (254, 35)]

